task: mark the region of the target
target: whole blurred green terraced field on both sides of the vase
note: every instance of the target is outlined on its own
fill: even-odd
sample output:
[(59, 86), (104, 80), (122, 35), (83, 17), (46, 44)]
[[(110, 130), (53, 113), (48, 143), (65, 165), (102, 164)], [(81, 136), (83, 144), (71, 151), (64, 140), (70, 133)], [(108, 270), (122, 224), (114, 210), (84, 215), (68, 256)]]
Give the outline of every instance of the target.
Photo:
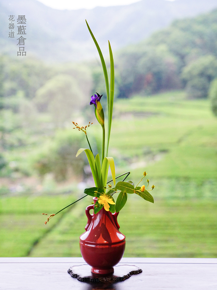
[[(101, 134), (98, 126), (92, 129)], [(120, 212), (125, 257), (217, 257), (217, 119), (207, 99), (184, 92), (118, 99), (110, 153), (116, 171), (156, 187), (155, 204), (128, 197)], [(80, 256), (79, 235), (91, 198), (45, 226), (75, 195), (0, 198), (0, 256)]]

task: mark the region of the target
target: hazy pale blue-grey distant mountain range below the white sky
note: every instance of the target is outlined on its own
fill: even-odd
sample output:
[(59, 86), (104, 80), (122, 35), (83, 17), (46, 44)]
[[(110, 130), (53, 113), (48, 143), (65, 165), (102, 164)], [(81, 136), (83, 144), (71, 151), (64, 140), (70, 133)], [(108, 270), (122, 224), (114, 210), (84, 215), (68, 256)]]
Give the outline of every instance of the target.
[(11, 14), (15, 18), (25, 15), (27, 19), (27, 56), (56, 62), (97, 56), (85, 19), (107, 54), (108, 39), (117, 50), (141, 41), (174, 19), (196, 16), (216, 7), (216, 0), (142, 0), (126, 6), (56, 10), (36, 0), (0, 0), (0, 53), (17, 55), (18, 37), (8, 37)]

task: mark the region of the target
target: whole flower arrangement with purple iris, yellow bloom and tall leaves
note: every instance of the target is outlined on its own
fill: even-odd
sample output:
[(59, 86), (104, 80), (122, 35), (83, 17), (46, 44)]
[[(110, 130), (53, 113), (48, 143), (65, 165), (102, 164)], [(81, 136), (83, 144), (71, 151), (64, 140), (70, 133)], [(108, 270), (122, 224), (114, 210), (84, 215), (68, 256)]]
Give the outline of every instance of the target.
[[(86, 21), (87, 23), (87, 21)], [(102, 158), (100, 160), (100, 155), (97, 154), (95, 157), (93, 155), (93, 151), (91, 148), (91, 144), (88, 140), (87, 137), (87, 129), (90, 127), (90, 123), (86, 126), (79, 126), (78, 123), (72, 122), (73, 125), (75, 126), (73, 129), (78, 129), (79, 131), (82, 131), (86, 135), (87, 143), (89, 145), (89, 149), (87, 148), (80, 148), (76, 154), (76, 157), (82, 153), (83, 151), (86, 153), (91, 172), (93, 175), (93, 179), (95, 182), (95, 187), (91, 188), (86, 188), (84, 189), (85, 195), (81, 197), (80, 199), (76, 200), (75, 202), (69, 204), (68, 206), (71, 206), (72, 204), (78, 202), (82, 198), (86, 197), (87, 195), (97, 197), (97, 201), (94, 204), (94, 213), (98, 213), (103, 207), (106, 211), (110, 211), (111, 213), (119, 212), (124, 205), (126, 204), (128, 194), (137, 194), (140, 197), (142, 197), (144, 200), (147, 200), (149, 202), (154, 203), (154, 199), (152, 195), (149, 193), (149, 191), (154, 189), (154, 185), (152, 185), (151, 189), (147, 189), (149, 186), (149, 180), (147, 179), (147, 186), (144, 184), (142, 186), (139, 186), (139, 183), (143, 180), (143, 178), (146, 176), (146, 171), (143, 173), (143, 177), (139, 181), (139, 183), (135, 186), (133, 181), (128, 180), (125, 182), (124, 180), (128, 177), (130, 172), (126, 172), (122, 175), (119, 175), (115, 177), (115, 164), (113, 157), (108, 157), (108, 146), (109, 146), (109, 140), (110, 140), (110, 134), (111, 134), (111, 124), (112, 124), (112, 113), (113, 113), (113, 100), (114, 100), (114, 84), (115, 84), (115, 75), (114, 75), (114, 61), (113, 61), (113, 54), (111, 50), (111, 45), (110, 42), (108, 41), (108, 47), (109, 47), (109, 55), (110, 55), (110, 68), (111, 68), (111, 79), (110, 79), (110, 87), (109, 87), (109, 81), (108, 81), (108, 73), (107, 73), (107, 68), (106, 64), (104, 61), (104, 57), (102, 55), (102, 52), (100, 50), (100, 47), (87, 23), (87, 27), (89, 29), (89, 32), (93, 38), (93, 41), (96, 45), (96, 48), (98, 50), (98, 53), (100, 55), (100, 60), (102, 63), (102, 68), (104, 72), (104, 78), (105, 78), (105, 83), (106, 83), (106, 94), (107, 94), (107, 106), (108, 106), (108, 126), (107, 126), (107, 144), (106, 144), (106, 154), (105, 154), (105, 123), (104, 123), (104, 112), (102, 105), (100, 103), (100, 99), (102, 98), (102, 95), (96, 93), (95, 95), (92, 95), (90, 105), (94, 105), (95, 107), (95, 117), (99, 124), (102, 126)], [(106, 155), (106, 156), (105, 156)], [(107, 177), (108, 177), (108, 168), (110, 166), (111, 169), (111, 174), (112, 174), (112, 180), (107, 182)], [(115, 180), (118, 177), (124, 176), (124, 179), (122, 181), (115, 182)], [(110, 182), (113, 181), (114, 186), (112, 187)], [(108, 184), (108, 187), (107, 187)], [(116, 202), (113, 198), (113, 195), (115, 193), (119, 193), (117, 196)], [(65, 208), (61, 209), (60, 211), (66, 209), (68, 206)], [(58, 211), (57, 213), (59, 213)], [(56, 213), (56, 214), (57, 214)], [(43, 213), (45, 214), (45, 213)], [(50, 215), (47, 220), (45, 221), (45, 224), (49, 221), (50, 218), (52, 218), (54, 215)], [(47, 215), (47, 214), (45, 214)]]

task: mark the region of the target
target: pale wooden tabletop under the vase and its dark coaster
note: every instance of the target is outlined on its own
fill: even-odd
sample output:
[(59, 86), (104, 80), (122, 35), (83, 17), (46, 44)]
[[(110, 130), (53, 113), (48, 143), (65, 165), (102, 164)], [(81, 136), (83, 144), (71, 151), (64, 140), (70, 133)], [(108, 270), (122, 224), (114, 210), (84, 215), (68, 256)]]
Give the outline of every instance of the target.
[(122, 258), (142, 273), (123, 282), (79, 282), (67, 273), (82, 258), (0, 258), (2, 290), (217, 290), (217, 258)]

